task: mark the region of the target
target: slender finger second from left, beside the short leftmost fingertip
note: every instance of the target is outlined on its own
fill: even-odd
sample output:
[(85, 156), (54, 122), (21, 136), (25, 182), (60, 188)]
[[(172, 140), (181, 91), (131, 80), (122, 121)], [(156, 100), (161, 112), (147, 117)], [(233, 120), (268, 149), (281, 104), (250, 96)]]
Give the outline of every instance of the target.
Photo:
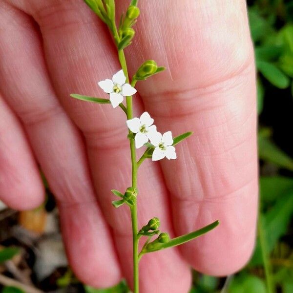
[[(63, 239), (75, 274), (95, 287), (120, 279), (110, 232), (97, 205), (83, 141), (49, 83), (31, 19), (1, 3), (0, 78), (19, 115), (60, 209)], [(9, 25), (7, 25), (9, 24)], [(25, 164), (19, 158), (19, 162)]]

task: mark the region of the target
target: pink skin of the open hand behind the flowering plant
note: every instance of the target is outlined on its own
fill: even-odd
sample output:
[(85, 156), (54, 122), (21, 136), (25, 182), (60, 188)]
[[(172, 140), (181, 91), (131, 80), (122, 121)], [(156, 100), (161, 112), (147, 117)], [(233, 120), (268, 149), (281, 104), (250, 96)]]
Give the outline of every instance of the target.
[[(118, 15), (129, 1), (117, 2)], [(118, 3), (119, 2), (119, 3)], [(140, 167), (139, 226), (157, 216), (181, 235), (220, 226), (140, 263), (141, 293), (186, 293), (189, 266), (223, 276), (254, 246), (257, 214), (255, 72), (244, 0), (147, 0), (126, 49), (132, 76), (147, 59), (167, 70), (136, 88), (135, 115), (148, 111), (174, 136), (177, 160)], [(129, 210), (110, 189), (131, 182), (126, 117), (97, 82), (120, 68), (101, 21), (82, 0), (0, 0), (0, 199), (32, 209), (44, 199), (41, 166), (56, 196), (76, 275), (95, 287), (131, 284)]]

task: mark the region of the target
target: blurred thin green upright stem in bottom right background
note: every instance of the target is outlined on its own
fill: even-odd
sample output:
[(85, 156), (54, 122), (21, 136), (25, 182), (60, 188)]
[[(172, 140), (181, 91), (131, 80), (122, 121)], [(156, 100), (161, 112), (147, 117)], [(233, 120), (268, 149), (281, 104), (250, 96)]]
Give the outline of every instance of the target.
[(268, 290), (268, 293), (273, 293), (274, 288), (272, 283), (271, 265), (270, 265), (269, 251), (267, 248), (266, 235), (265, 235), (263, 222), (264, 222), (263, 215), (260, 214), (258, 218), (258, 222), (257, 222), (258, 237), (259, 237), (259, 243), (261, 247), (262, 258), (264, 261), (267, 290)]

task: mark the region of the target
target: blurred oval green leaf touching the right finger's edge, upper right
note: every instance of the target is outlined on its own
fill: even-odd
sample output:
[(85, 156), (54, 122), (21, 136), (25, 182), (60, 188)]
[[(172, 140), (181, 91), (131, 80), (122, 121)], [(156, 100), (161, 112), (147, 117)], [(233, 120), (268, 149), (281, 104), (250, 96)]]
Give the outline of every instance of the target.
[(274, 64), (266, 61), (256, 61), (257, 69), (274, 86), (286, 88), (290, 84), (290, 79)]

